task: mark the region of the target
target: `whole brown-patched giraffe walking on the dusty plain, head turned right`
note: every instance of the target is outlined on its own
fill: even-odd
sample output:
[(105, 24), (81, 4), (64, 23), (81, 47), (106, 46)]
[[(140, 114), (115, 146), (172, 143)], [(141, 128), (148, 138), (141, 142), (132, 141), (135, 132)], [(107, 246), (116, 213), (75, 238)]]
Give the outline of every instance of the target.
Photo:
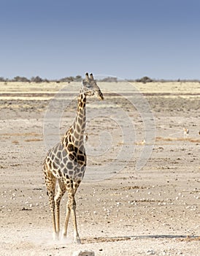
[[(96, 96), (104, 99), (99, 86), (93, 78), (93, 74), (85, 74), (78, 97), (77, 114), (74, 123), (61, 139), (61, 142), (53, 146), (45, 157), (43, 171), (47, 195), (49, 197), (50, 211), (53, 219), (53, 237), (59, 238), (60, 233), (60, 202), (65, 192), (68, 193), (66, 203), (66, 217), (63, 236), (66, 237), (69, 216), (71, 213), (74, 225), (74, 242), (80, 244), (80, 236), (77, 230), (76, 202), (74, 195), (82, 181), (86, 168), (85, 142), (85, 104), (87, 96)], [(55, 193), (55, 184), (58, 181), (58, 190)]]

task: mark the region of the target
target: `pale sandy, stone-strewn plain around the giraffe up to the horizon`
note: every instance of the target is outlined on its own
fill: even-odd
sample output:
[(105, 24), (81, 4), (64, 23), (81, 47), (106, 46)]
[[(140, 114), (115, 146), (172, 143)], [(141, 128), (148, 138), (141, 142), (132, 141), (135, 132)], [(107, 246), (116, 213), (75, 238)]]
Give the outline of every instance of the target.
[(200, 255), (200, 83), (99, 83), (105, 99), (88, 99), (88, 170), (76, 195), (82, 244), (72, 222), (53, 241), (42, 162), (59, 135), (44, 125), (59, 121), (64, 134), (79, 86), (53, 105), (58, 120), (50, 102), (64, 84), (0, 84), (0, 255)]

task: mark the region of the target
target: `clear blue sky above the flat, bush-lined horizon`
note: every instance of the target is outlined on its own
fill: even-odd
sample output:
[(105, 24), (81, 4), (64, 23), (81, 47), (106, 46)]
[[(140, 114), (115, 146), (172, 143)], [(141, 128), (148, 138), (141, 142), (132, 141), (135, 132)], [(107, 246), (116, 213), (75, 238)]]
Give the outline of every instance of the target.
[(0, 77), (200, 79), (199, 0), (0, 0)]

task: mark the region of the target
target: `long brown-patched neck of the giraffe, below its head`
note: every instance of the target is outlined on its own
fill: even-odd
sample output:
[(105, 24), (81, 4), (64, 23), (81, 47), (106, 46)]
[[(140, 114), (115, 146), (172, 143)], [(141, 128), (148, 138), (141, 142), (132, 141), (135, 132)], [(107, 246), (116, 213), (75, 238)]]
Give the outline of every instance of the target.
[(68, 132), (66, 132), (66, 135), (64, 135), (65, 144), (72, 143), (77, 148), (83, 146), (86, 125), (85, 104), (86, 96), (85, 94), (83, 94), (82, 91), (80, 91), (80, 95), (78, 97), (77, 115), (74, 120), (74, 123), (69, 128)]

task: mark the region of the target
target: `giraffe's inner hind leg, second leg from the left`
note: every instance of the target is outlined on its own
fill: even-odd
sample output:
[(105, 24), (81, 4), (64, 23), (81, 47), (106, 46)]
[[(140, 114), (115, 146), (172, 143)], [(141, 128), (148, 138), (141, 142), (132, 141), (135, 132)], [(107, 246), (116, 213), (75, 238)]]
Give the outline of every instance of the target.
[(58, 179), (58, 191), (55, 195), (55, 221), (56, 221), (56, 231), (60, 233), (60, 203), (61, 199), (66, 192), (66, 186), (64, 181)]

